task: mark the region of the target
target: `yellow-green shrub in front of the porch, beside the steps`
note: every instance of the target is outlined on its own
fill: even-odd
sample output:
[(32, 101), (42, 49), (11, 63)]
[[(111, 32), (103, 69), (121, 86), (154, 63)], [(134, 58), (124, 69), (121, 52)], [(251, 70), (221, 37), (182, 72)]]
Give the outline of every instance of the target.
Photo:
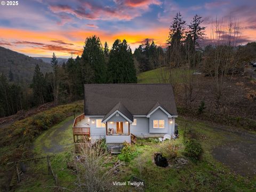
[(135, 148), (134, 145), (131, 145), (130, 143), (124, 143), (124, 147), (121, 151), (121, 154), (118, 155), (118, 158), (121, 161), (129, 163), (138, 154), (139, 154), (139, 151)]

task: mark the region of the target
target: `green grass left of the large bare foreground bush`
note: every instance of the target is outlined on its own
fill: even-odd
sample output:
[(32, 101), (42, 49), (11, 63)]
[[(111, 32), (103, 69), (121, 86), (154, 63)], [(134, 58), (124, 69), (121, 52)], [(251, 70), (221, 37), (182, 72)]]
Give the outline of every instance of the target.
[[(34, 142), (34, 152), (36, 156), (51, 156), (51, 165), (55, 173), (58, 174), (59, 183), (62, 187), (72, 189), (75, 176), (71, 174), (71, 171), (67, 169), (67, 162), (70, 161), (71, 151), (73, 151), (73, 132), (72, 125), (70, 124), (65, 132), (59, 133), (58, 145), (62, 145), (65, 149), (61, 153), (45, 153), (44, 147), (54, 148), (52, 141), (49, 139), (51, 135), (58, 132), (59, 129), (66, 122), (73, 119), (74, 116), (66, 118), (61, 123), (53, 126), (51, 129), (43, 132)], [(47, 162), (46, 159), (40, 160), (36, 166), (35, 164), (28, 164), (34, 174), (29, 174), (24, 179), (21, 185), (15, 191), (53, 191), (54, 180), (52, 175), (47, 174)]]

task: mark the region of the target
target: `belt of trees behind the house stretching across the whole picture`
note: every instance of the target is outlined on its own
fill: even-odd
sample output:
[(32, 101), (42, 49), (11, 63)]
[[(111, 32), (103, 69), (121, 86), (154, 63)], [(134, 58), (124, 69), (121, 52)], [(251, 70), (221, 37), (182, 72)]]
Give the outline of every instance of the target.
[[(46, 102), (54, 102), (56, 106), (82, 99), (86, 83), (137, 83), (138, 74), (152, 69), (159, 69), (159, 82), (172, 83), (174, 91), (177, 87), (174, 69), (200, 71), (211, 76), (218, 105), (227, 76), (243, 73), (244, 66), (255, 61), (256, 43), (239, 45), (239, 28), (232, 20), (228, 26), (219, 20), (214, 22), (218, 25), (211, 31), (217, 36), (209, 42), (202, 17), (196, 14), (187, 24), (177, 13), (171, 22), (166, 47), (145, 38), (133, 53), (125, 39), (116, 39), (109, 48), (107, 42), (101, 43), (100, 37), (86, 37), (81, 56), (58, 63), (58, 55), (53, 53), (51, 69), (45, 69), (38, 61), (32, 81), (26, 85), (14, 81), (16, 77), (10, 69), (8, 75), (0, 75), (0, 117)], [(183, 77), (184, 103), (189, 106), (194, 97), (194, 76), (188, 73)]]

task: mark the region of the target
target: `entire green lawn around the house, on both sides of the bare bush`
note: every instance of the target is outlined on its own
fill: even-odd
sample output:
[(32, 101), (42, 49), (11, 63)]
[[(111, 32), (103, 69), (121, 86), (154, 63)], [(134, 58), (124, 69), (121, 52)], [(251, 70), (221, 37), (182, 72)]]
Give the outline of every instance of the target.
[[(52, 155), (52, 153), (45, 153), (42, 146), (54, 147), (47, 138), (62, 129), (63, 125), (70, 121), (70, 118), (47, 130), (36, 139), (34, 142), (35, 152), (38, 155)], [(139, 153), (121, 168), (121, 173), (117, 174), (115, 181), (129, 181), (132, 175), (135, 175), (145, 180), (146, 191), (159, 191), (160, 188), (161, 191), (255, 191), (256, 178), (247, 179), (241, 177), (232, 172), (227, 166), (215, 161), (212, 157), (212, 148), (221, 145), (225, 140), (225, 137), (220, 132), (214, 130), (214, 126), (181, 117), (177, 119), (177, 123), (179, 124), (180, 137), (171, 142), (179, 146), (178, 158), (186, 158), (183, 154), (185, 148), (183, 133), (188, 123), (186, 139), (196, 137), (204, 150), (200, 161), (189, 160), (187, 165), (179, 169), (174, 168), (173, 163), (166, 168), (158, 167), (154, 163), (153, 155), (156, 151), (161, 150), (163, 145), (166, 145), (166, 142), (159, 143), (157, 138), (138, 139), (135, 148)], [(60, 153), (55, 153), (51, 157), (51, 162), (53, 170), (58, 174), (60, 185), (72, 189), (74, 188), (76, 177), (67, 169), (67, 163), (70, 161), (71, 152), (73, 151), (73, 145), (69, 144), (73, 141), (70, 139), (72, 138), (70, 129), (67, 130), (63, 134), (64, 136), (58, 139), (58, 145), (63, 145), (64, 150)], [(110, 158), (113, 163), (119, 159), (118, 156), (111, 156)], [(142, 168), (139, 169), (139, 167)], [(32, 191), (53, 191), (50, 186), (54, 186), (54, 180), (51, 175), (47, 175), (45, 160), (37, 164), (31, 164), (30, 169), (33, 170), (34, 174), (24, 179), (17, 191), (27, 191), (28, 189)], [(141, 170), (141, 173), (139, 170)], [(129, 191), (133, 190), (133, 187), (118, 187), (116, 190)]]

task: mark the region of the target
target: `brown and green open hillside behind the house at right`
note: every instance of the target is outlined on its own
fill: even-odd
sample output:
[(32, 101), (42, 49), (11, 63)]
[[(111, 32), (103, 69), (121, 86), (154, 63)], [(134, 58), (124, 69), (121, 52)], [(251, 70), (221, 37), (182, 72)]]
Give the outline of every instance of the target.
[[(245, 71), (249, 69), (251, 68), (246, 68)], [(169, 74), (169, 71), (163, 68), (146, 71), (137, 75), (138, 83), (170, 82), (168, 79), (161, 81), (161, 76), (165, 74), (161, 73), (161, 71), (165, 71), (166, 74)], [(256, 72), (253, 73), (256, 74)], [(254, 90), (256, 90), (256, 80), (250, 78), (249, 73), (245, 73), (244, 76), (233, 76), (231, 79), (226, 79), (225, 84), (223, 84), (223, 95), (219, 100), (219, 108), (216, 107), (217, 101), (214, 92), (214, 81), (212, 77), (206, 77), (204, 74), (191, 76), (191, 81), (193, 81), (193, 99), (186, 105), (184, 75), (184, 71), (173, 69), (172, 84), (174, 87), (175, 101), (180, 109), (192, 110), (192, 114), (197, 114), (199, 106), (204, 102), (205, 113), (199, 115), (199, 118), (218, 123), (221, 121), (221, 123), (229, 125), (239, 124), (243, 125), (246, 129), (255, 130), (256, 103), (250, 97), (253, 97)], [(169, 75), (166, 77), (168, 76)], [(183, 110), (179, 112), (185, 113)], [(191, 111), (189, 113), (191, 113)], [(225, 114), (226, 117), (225, 122), (222, 118), (223, 114)], [(244, 122), (242, 122), (243, 119)], [(250, 121), (250, 119), (254, 121)]]

